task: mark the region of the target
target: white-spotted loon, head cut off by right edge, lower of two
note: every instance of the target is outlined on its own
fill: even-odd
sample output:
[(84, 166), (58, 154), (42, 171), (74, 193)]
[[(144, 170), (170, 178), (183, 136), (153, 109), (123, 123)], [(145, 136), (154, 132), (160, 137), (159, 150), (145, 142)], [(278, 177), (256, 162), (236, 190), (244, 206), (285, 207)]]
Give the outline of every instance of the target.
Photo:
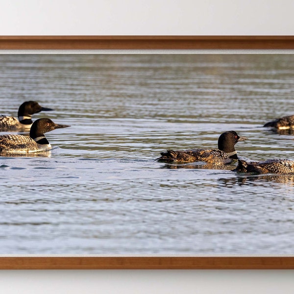
[(294, 174), (294, 161), (289, 159), (269, 159), (265, 161), (246, 162), (238, 160), (235, 172)]

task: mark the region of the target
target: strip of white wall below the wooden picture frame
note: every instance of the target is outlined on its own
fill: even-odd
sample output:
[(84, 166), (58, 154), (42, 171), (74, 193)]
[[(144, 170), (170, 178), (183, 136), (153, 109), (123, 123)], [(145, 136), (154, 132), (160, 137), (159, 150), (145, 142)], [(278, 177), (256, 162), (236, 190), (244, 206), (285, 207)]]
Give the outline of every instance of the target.
[(5, 294), (287, 294), (294, 270), (13, 270)]

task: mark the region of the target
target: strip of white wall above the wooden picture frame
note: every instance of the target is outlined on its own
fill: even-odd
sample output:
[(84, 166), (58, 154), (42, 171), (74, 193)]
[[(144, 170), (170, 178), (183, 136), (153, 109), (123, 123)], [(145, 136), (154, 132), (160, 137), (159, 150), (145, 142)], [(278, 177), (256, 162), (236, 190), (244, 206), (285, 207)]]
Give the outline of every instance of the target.
[(0, 35), (292, 35), (293, 0), (0, 0)]

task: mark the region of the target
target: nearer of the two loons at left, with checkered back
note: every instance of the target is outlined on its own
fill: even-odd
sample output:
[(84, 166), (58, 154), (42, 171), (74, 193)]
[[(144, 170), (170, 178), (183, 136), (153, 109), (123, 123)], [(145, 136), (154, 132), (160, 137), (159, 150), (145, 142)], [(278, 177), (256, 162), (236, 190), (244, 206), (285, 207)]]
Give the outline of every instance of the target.
[(52, 131), (56, 128), (68, 126), (70, 125), (53, 123), (49, 119), (38, 119), (32, 124), (29, 137), (23, 135), (1, 135), (0, 154), (31, 153), (49, 150), (52, 147), (46, 139), (44, 133)]

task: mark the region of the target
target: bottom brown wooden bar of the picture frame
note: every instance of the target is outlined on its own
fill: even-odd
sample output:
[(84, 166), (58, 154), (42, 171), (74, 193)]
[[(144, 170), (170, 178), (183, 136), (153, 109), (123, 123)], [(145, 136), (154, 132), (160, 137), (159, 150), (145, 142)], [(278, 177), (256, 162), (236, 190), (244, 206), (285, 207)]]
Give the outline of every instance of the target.
[(0, 257), (2, 270), (293, 270), (294, 257)]

